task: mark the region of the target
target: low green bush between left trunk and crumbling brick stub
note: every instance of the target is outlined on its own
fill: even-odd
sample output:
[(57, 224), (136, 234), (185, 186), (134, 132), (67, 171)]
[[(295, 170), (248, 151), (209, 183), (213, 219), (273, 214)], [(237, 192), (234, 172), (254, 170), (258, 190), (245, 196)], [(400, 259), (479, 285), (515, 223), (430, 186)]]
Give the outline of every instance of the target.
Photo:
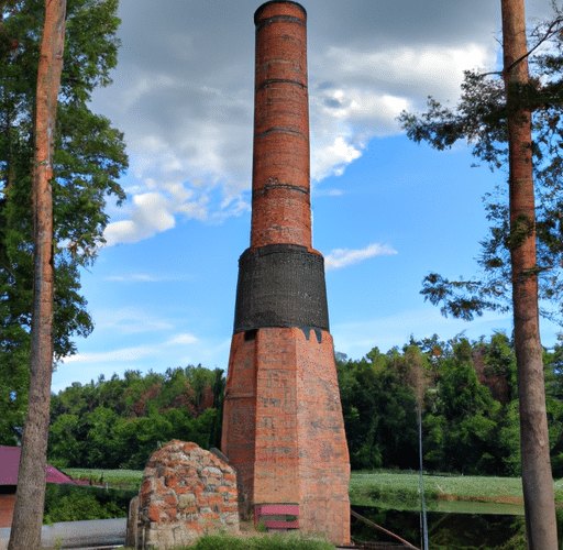
[(101, 488), (89, 485), (48, 483), (43, 522), (80, 521), (126, 517), (136, 490)]

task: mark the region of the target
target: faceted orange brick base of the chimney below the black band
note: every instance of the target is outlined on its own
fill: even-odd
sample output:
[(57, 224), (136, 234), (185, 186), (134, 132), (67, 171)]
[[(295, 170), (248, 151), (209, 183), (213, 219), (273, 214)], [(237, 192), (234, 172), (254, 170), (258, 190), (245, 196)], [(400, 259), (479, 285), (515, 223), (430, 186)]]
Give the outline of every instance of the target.
[(347, 543), (350, 461), (332, 338), (301, 328), (253, 336), (233, 337), (222, 451), (244, 472), (250, 505), (298, 504), (299, 529)]

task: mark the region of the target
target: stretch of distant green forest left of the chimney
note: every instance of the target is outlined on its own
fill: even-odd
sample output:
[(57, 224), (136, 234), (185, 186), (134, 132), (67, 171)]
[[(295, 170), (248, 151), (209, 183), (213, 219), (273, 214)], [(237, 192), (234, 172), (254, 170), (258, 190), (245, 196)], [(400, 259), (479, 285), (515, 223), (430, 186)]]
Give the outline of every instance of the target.
[(223, 371), (201, 365), (75, 383), (52, 397), (49, 463), (140, 470), (172, 439), (219, 447), (223, 388)]

